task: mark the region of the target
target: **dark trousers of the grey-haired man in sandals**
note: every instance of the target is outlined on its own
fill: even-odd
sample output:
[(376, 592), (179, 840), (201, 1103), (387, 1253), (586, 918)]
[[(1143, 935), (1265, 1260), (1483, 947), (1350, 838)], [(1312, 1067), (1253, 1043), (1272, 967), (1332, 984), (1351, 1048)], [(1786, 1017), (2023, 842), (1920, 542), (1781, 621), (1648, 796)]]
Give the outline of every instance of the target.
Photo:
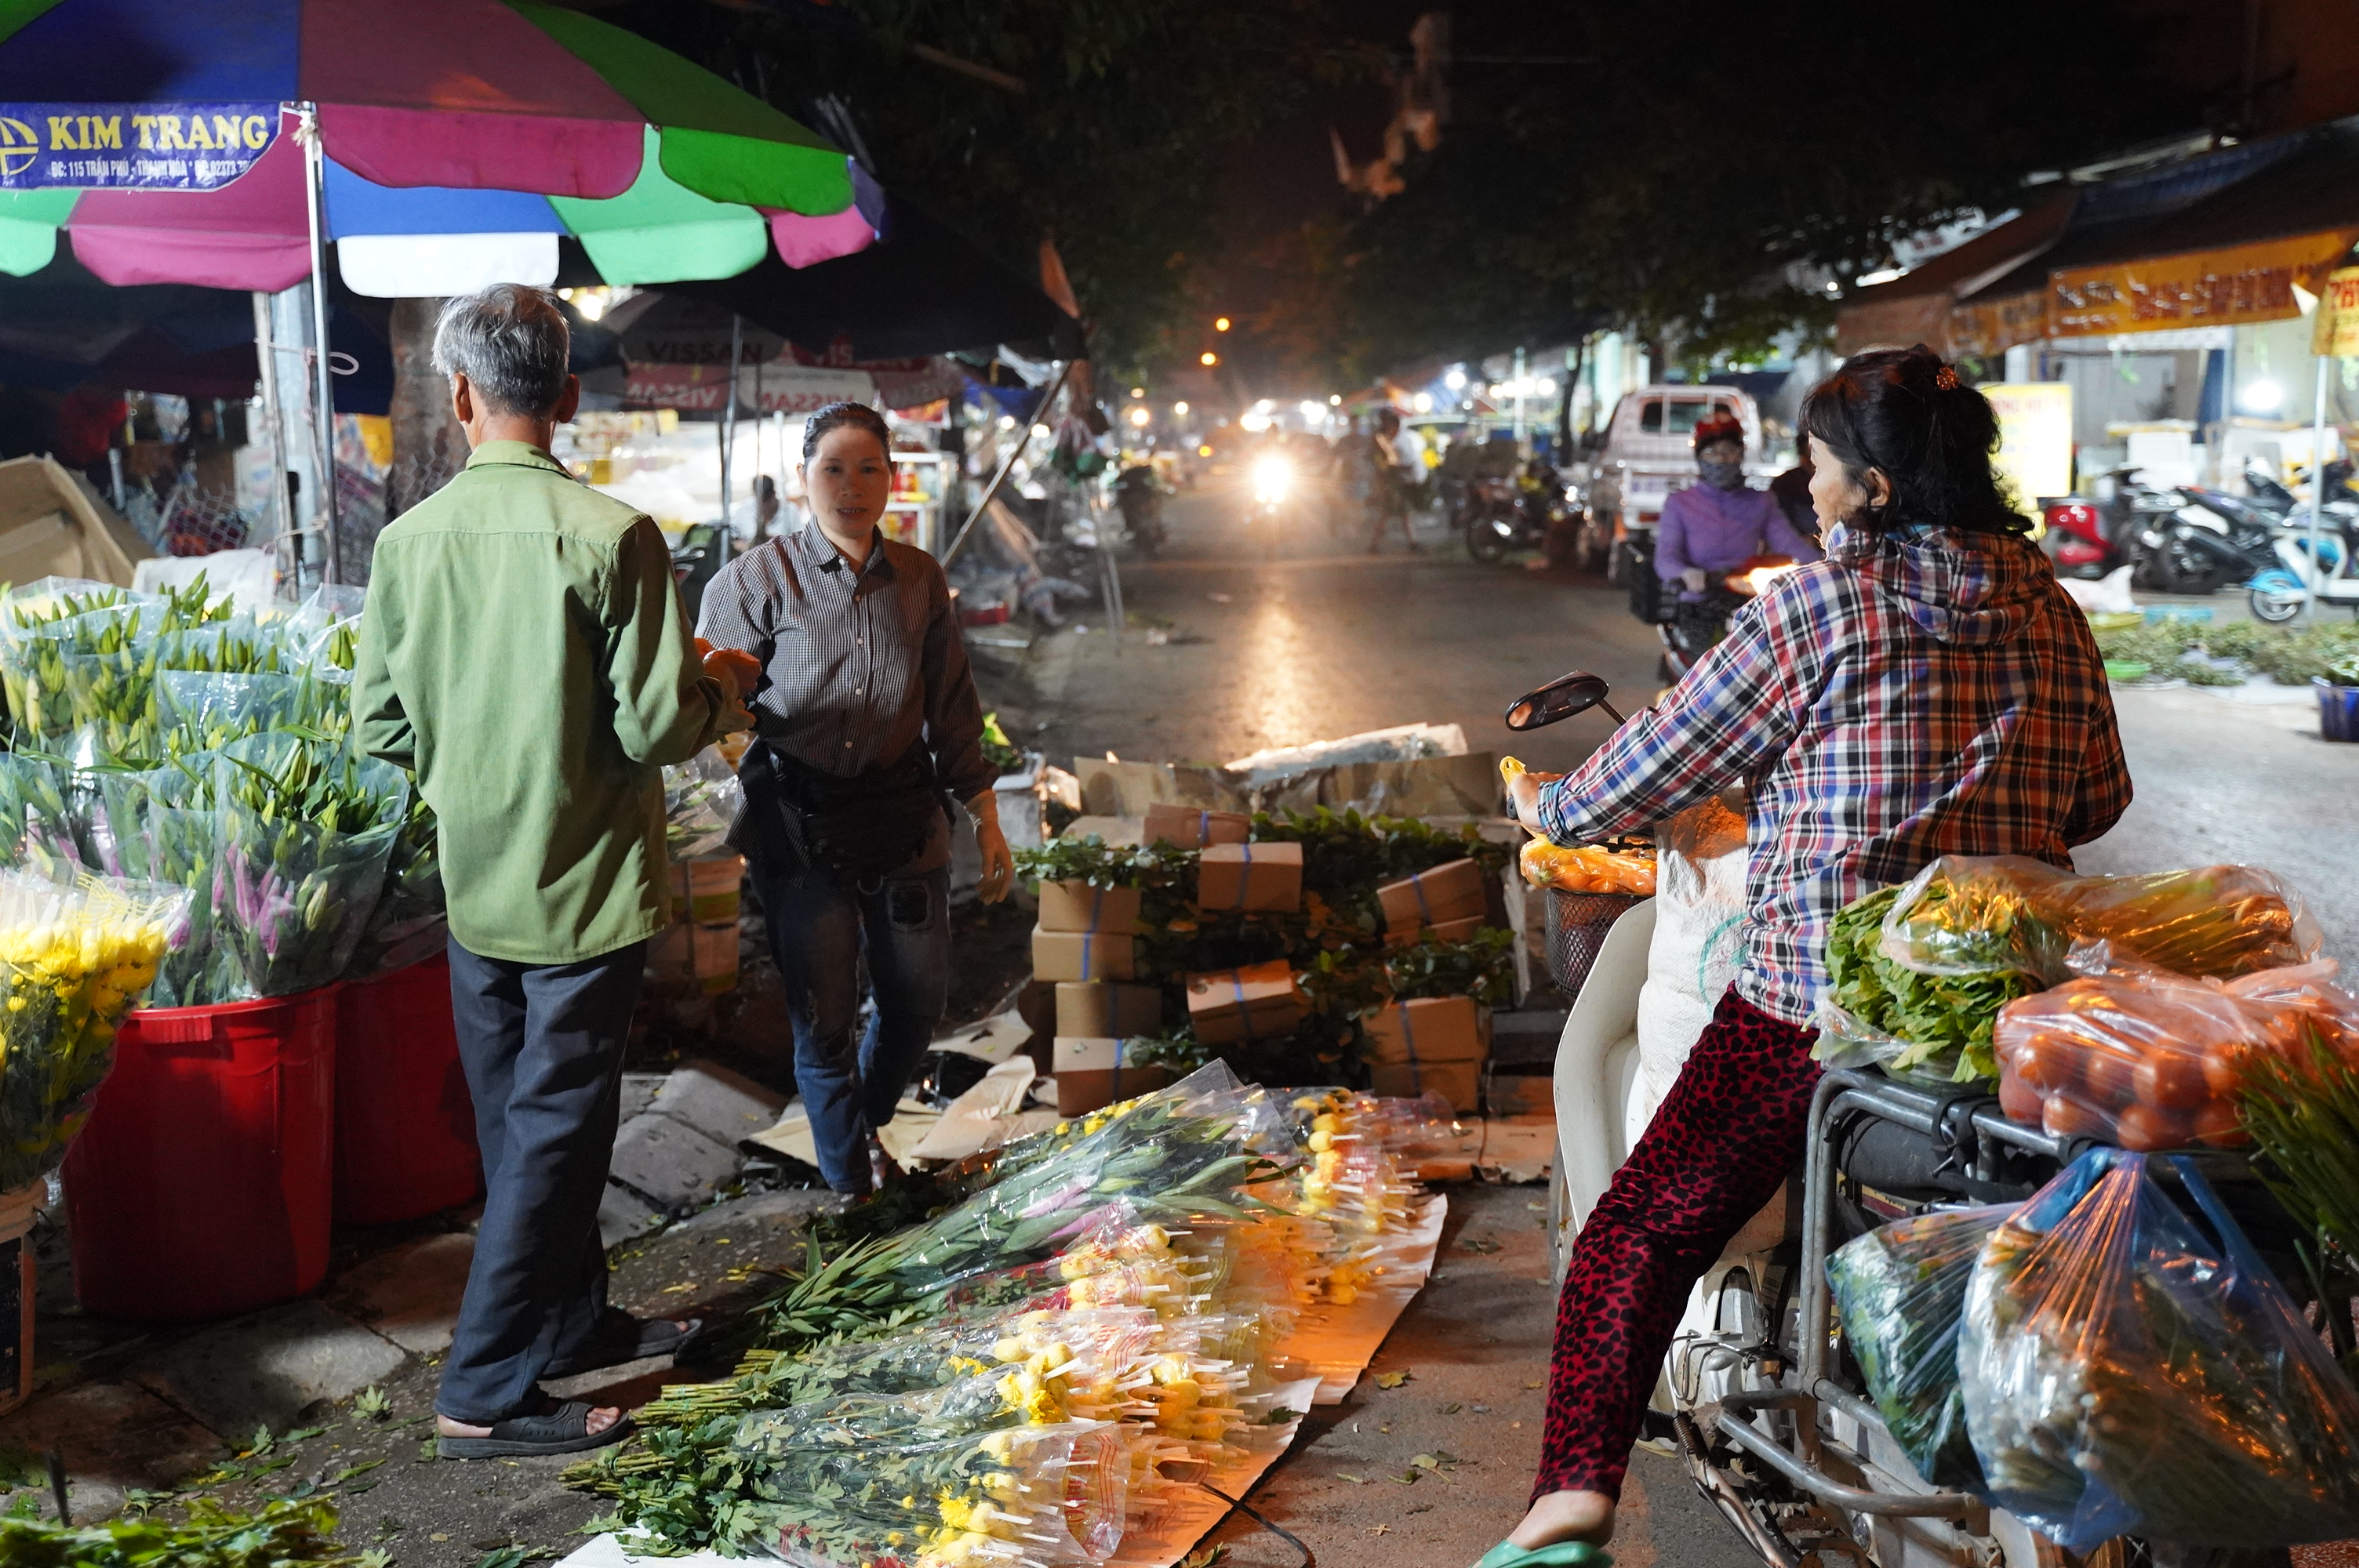
[(479, 957), (451, 938), (451, 1012), (484, 1148), (484, 1221), (434, 1410), (491, 1424), (606, 1311), (597, 1207), (623, 1103), (646, 943), (576, 964)]

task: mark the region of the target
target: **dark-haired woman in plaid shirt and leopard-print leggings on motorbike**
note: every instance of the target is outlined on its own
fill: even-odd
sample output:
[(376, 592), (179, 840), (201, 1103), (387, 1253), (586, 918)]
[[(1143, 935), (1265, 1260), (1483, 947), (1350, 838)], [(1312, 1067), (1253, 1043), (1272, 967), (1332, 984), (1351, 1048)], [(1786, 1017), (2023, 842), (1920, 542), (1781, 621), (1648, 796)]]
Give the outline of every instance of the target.
[(1578, 771), (1526, 773), (1559, 844), (1743, 788), (1746, 957), (1581, 1231), (1531, 1511), (1484, 1568), (1606, 1542), (1689, 1287), (1786, 1181), (1819, 1068), (1826, 929), (1944, 854), (2071, 865), (2130, 802), (2088, 620), (1991, 472), (1991, 403), (1923, 344), (1857, 354), (1802, 408), (1826, 561), (1779, 578)]

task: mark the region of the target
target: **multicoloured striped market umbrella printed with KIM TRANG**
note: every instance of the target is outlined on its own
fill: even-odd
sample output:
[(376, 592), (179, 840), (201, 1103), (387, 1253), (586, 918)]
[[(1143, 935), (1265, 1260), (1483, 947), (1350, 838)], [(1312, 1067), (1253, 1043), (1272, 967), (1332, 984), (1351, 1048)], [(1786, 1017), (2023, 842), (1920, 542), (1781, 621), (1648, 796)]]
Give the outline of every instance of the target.
[[(288, 106), (293, 113), (281, 113)], [(307, 125), (316, 125), (318, 158)], [(823, 139), (616, 26), (502, 0), (0, 0), (0, 269), (373, 295), (727, 278), (875, 238)], [(863, 212), (866, 207), (866, 212)]]

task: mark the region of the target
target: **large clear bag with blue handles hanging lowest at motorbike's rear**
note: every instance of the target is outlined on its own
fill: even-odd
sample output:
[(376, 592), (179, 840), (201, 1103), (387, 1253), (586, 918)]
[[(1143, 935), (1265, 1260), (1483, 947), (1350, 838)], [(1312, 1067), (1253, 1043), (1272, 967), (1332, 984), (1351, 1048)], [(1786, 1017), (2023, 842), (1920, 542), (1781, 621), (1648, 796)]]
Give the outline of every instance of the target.
[(2092, 1148), (1982, 1250), (1958, 1332), (1993, 1507), (2069, 1551), (2114, 1535), (2293, 1547), (2359, 1535), (2359, 1391), (2210, 1184)]

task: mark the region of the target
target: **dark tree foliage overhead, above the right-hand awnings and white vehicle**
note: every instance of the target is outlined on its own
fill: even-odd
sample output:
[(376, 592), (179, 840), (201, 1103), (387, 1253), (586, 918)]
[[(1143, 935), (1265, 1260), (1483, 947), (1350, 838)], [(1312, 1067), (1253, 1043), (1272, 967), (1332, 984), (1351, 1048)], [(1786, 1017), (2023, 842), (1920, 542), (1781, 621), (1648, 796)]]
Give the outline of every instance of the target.
[(1366, 365), (1583, 325), (1760, 354), (1828, 323), (1828, 274), (1840, 288), (1894, 238), (2015, 205), (2033, 170), (2194, 120), (2114, 2), (1498, 0), (1456, 21), (1441, 146), (1342, 243)]

